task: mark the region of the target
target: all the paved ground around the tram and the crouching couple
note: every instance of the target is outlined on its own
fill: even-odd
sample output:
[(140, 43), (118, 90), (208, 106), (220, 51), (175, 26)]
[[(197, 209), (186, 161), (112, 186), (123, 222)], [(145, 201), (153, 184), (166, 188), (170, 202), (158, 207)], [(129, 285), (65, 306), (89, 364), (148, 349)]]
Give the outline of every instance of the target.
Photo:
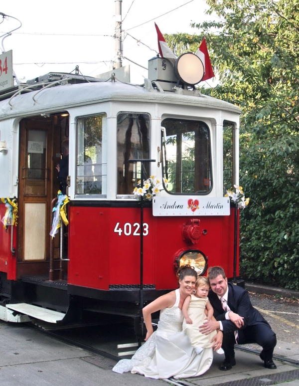
[[(251, 293), (250, 296), (254, 306), (261, 311), (277, 334), (275, 355), (299, 361), (298, 300), (256, 293)], [(0, 322), (0, 342), (1, 386), (167, 385), (165, 381), (150, 380), (130, 373), (120, 375), (99, 368), (82, 360), (94, 357), (88, 351), (50, 338), (25, 325)], [(259, 349), (257, 345), (249, 347)], [(219, 365), (222, 360), (223, 356), (215, 354), (207, 373), (185, 381), (194, 386), (281, 385), (281, 381), (292, 380), (294, 371), (297, 371), (299, 379), (299, 366), (275, 360), (277, 370), (267, 370), (258, 355), (240, 350), (236, 350), (237, 365), (232, 370), (221, 372)], [(253, 383), (255, 380), (256, 383)], [(299, 380), (282, 385), (299, 386)]]

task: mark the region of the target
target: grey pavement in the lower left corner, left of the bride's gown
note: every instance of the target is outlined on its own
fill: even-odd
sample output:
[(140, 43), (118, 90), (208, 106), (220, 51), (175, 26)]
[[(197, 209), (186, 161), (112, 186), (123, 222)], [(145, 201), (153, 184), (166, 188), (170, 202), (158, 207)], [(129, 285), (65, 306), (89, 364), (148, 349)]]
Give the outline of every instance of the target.
[(91, 353), (26, 326), (0, 323), (1, 386), (153, 386), (156, 381), (103, 370), (81, 358)]

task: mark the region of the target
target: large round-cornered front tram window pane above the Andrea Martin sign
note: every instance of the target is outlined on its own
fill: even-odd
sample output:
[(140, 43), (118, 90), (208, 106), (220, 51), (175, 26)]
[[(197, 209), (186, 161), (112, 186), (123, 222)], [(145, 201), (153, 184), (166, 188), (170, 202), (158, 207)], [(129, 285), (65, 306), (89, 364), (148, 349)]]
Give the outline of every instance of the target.
[(210, 131), (200, 121), (165, 119), (163, 177), (168, 193), (207, 194), (212, 189)]

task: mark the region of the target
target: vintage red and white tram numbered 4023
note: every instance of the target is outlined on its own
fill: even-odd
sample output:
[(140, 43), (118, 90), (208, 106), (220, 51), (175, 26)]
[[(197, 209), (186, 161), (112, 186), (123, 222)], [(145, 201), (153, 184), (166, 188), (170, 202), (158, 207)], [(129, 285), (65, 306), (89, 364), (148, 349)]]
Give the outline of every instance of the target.
[[(1, 319), (43, 319), (50, 310), (44, 320), (68, 323), (92, 310), (127, 315), (137, 330), (141, 290), (146, 303), (177, 288), (180, 264), (238, 275), (235, 208), (223, 196), (238, 184), (238, 107), (179, 81), (151, 77), (140, 86), (63, 73), (0, 99), (0, 197), (18, 204), (17, 226), (0, 226)], [(55, 165), (66, 139), (69, 225), (51, 247)], [(141, 171), (163, 189), (144, 200), (142, 224), (133, 195)], [(5, 210), (0, 203), (0, 218)]]

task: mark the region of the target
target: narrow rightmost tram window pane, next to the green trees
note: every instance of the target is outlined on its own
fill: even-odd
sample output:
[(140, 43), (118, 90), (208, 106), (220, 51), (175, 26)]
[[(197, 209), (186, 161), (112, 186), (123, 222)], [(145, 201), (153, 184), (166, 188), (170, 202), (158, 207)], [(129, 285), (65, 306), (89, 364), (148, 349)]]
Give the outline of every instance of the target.
[(223, 194), (234, 186), (234, 129), (232, 122), (223, 122)]

